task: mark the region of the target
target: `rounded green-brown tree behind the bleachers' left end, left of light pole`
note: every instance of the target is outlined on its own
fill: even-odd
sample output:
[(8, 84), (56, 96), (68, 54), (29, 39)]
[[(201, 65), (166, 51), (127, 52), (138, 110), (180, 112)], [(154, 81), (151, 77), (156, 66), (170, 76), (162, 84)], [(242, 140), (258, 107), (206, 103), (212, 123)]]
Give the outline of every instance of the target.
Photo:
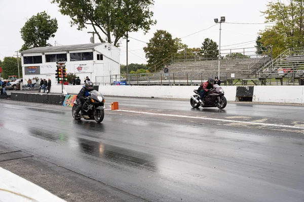
[(165, 30), (157, 30), (143, 48), (148, 65), (156, 64), (183, 48), (180, 38), (172, 38)]

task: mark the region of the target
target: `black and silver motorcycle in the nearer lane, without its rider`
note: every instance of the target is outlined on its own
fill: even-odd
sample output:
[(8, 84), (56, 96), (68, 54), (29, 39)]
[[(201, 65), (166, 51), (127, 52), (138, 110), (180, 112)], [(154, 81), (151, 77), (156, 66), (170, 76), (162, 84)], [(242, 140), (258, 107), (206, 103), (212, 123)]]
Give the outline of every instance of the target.
[(104, 118), (104, 96), (97, 90), (92, 90), (89, 92), (89, 96), (85, 97), (85, 103), (82, 107), (80, 116), (75, 117), (74, 112), (77, 109), (77, 102), (74, 101), (74, 106), (72, 108), (73, 118), (80, 120), (84, 118), (85, 120), (95, 120), (97, 123), (102, 122)]

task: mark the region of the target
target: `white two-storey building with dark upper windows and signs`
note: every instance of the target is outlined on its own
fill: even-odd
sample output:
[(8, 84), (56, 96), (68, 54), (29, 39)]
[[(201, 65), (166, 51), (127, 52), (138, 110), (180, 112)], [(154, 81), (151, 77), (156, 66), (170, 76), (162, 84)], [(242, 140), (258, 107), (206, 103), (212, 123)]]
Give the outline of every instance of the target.
[(56, 62), (64, 61), (66, 72), (75, 73), (82, 83), (86, 76), (93, 83), (110, 83), (110, 75), (120, 75), (119, 51), (107, 42), (31, 48), (21, 52), (23, 79), (50, 78), (54, 85)]

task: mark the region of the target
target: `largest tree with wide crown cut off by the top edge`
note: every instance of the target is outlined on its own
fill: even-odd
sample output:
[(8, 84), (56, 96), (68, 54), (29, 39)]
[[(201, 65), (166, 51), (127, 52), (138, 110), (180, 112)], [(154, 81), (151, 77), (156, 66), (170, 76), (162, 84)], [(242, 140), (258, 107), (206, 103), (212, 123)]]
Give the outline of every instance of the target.
[(156, 23), (151, 20), (150, 11), (154, 0), (52, 0), (52, 3), (57, 3), (59, 11), (71, 18), (71, 25), (79, 30), (90, 25), (101, 42), (113, 42), (115, 46), (126, 32), (143, 29), (146, 33)]

